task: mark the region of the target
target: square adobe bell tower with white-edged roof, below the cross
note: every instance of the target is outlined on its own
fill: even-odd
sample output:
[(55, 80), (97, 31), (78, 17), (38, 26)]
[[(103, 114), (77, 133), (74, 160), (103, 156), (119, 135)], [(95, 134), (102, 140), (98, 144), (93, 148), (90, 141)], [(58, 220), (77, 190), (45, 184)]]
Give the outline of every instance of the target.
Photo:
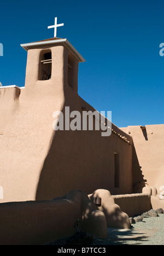
[(78, 91), (78, 65), (85, 59), (66, 38), (50, 38), (21, 44), (27, 51), (25, 90), (37, 86), (71, 87)]

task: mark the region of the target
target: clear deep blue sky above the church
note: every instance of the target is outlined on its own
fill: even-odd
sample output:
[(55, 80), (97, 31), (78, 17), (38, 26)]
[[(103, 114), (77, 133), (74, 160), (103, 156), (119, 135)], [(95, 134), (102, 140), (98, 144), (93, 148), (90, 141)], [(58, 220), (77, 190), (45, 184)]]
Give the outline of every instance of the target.
[(27, 52), (21, 43), (67, 38), (85, 58), (79, 64), (79, 95), (112, 122), (163, 124), (163, 0), (1, 1), (0, 81), (25, 85)]

